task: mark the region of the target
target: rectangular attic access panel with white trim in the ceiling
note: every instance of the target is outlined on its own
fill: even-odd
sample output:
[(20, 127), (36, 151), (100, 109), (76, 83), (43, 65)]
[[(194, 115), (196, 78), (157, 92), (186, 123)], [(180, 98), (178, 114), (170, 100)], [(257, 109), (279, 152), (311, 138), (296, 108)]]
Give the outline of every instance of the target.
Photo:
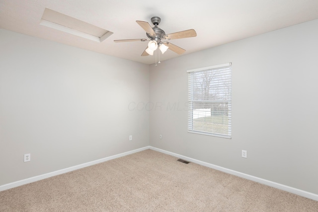
[(113, 34), (113, 32), (106, 29), (102, 29), (49, 8), (45, 8), (40, 24), (97, 42), (102, 42)]

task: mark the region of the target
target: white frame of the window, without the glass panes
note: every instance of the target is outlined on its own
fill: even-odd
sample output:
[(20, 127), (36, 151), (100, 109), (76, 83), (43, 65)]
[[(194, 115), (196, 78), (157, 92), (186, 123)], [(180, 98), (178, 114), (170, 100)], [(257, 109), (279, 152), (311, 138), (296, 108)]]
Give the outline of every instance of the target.
[[(207, 135), (207, 136), (215, 136), (215, 137), (221, 137), (221, 138), (226, 138), (226, 139), (231, 139), (232, 138), (232, 123), (231, 123), (231, 119), (232, 119), (232, 71), (231, 71), (231, 66), (232, 63), (227, 63), (227, 64), (221, 64), (221, 65), (216, 65), (216, 66), (210, 66), (210, 67), (204, 67), (204, 68), (199, 68), (199, 69), (193, 69), (193, 70), (188, 70), (188, 133), (195, 133), (195, 134), (201, 134), (201, 135)], [(227, 70), (228, 72), (226, 73), (226, 77), (227, 80), (230, 81), (230, 91), (227, 91), (227, 99), (208, 99), (208, 100), (194, 100), (194, 81), (193, 81), (193, 77), (194, 77), (194, 72), (199, 72), (200, 73), (196, 73), (196, 74), (204, 74), (205, 72), (208, 71), (221, 71), (221, 70)], [(230, 71), (230, 72), (229, 72)], [(230, 73), (230, 74), (229, 74)], [(220, 134), (217, 132), (205, 132), (203, 130), (195, 130), (193, 129), (193, 103), (194, 102), (209, 102), (209, 103), (215, 103), (215, 102), (227, 102), (228, 105), (228, 109), (227, 111), (227, 117), (228, 117), (228, 133), (227, 134)], [(213, 111), (213, 110), (212, 110)], [(211, 111), (210, 111), (211, 113)], [(210, 115), (211, 116), (211, 115)], [(212, 130), (213, 131), (213, 130)]]

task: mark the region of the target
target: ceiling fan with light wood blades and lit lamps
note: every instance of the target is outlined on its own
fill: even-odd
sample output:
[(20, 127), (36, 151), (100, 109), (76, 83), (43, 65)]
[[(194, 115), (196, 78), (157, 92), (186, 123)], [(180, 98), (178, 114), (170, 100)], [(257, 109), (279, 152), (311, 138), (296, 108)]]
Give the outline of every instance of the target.
[(155, 27), (151, 27), (151, 25), (146, 21), (136, 21), (145, 31), (146, 35), (149, 38), (147, 39), (128, 39), (128, 40), (114, 40), (114, 42), (131, 42), (131, 41), (150, 41), (148, 43), (148, 47), (143, 52), (141, 56), (154, 55), (154, 51), (159, 47), (161, 53), (163, 54), (167, 49), (181, 55), (185, 52), (184, 49), (173, 45), (167, 41), (162, 40), (172, 40), (172, 39), (180, 39), (180, 38), (190, 38), (197, 36), (197, 33), (194, 29), (189, 29), (181, 32), (175, 32), (171, 34), (165, 34), (165, 32), (158, 27), (161, 19), (157, 16), (151, 18), (151, 22), (155, 25)]

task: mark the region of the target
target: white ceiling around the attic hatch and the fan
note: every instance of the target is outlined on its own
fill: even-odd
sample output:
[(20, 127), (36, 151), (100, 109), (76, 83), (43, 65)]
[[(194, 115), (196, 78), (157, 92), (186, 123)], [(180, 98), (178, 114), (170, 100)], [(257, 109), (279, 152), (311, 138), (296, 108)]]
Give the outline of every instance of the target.
[[(113, 32), (98, 43), (40, 25), (49, 8)], [(170, 40), (193, 53), (318, 18), (318, 0), (0, 0), (0, 27), (70, 46), (144, 64), (147, 42), (115, 43), (147, 38), (136, 20), (159, 16), (166, 34), (195, 29), (197, 37)], [(153, 25), (152, 25), (153, 26)], [(167, 51), (160, 61), (178, 57)]]

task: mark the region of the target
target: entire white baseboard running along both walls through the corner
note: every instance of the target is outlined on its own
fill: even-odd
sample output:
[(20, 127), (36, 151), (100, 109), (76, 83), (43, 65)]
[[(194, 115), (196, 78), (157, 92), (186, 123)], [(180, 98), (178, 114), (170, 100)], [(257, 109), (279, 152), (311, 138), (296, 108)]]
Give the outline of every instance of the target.
[(17, 187), (17, 186), (21, 186), (21, 185), (25, 185), (25, 184), (28, 184), (28, 183), (32, 183), (32, 182), (35, 182), (35, 181), (38, 181), (38, 180), (43, 180), (43, 179), (46, 179), (46, 178), (49, 178), (49, 177), (53, 177), (53, 176), (56, 176), (56, 175), (64, 174), (64, 173), (67, 173), (67, 172), (70, 172), (70, 171), (74, 171), (74, 170), (77, 170), (77, 169), (80, 169), (80, 168), (84, 168), (84, 167), (87, 167), (87, 166), (95, 165), (97, 163), (105, 162), (107, 160), (112, 160), (112, 159), (115, 159), (115, 158), (118, 158), (118, 157), (126, 156), (126, 155), (129, 155), (129, 154), (133, 154), (133, 153), (136, 153), (136, 152), (139, 152), (139, 151), (146, 150), (146, 149), (153, 149), (155, 151), (159, 151), (159, 152), (164, 153), (164, 154), (172, 155), (172, 156), (175, 156), (175, 157), (178, 157), (178, 158), (181, 158), (181, 159), (193, 162), (193, 163), (197, 163), (197, 164), (209, 167), (209, 168), (213, 168), (213, 169), (216, 169), (216, 170), (219, 170), (219, 171), (223, 171), (223, 172), (226, 172), (226, 173), (229, 173), (229, 174), (232, 174), (232, 175), (236, 175), (236, 176), (248, 179), (248, 180), (252, 180), (252, 181), (267, 185), (267, 186), (271, 186), (273, 188), (277, 188), (277, 189), (280, 189), (280, 190), (283, 190), (283, 191), (287, 191), (287, 192), (290, 192), (290, 193), (293, 193), (293, 194), (297, 194), (297, 195), (302, 196), (302, 197), (306, 197), (306, 198), (318, 201), (318, 194), (310, 193), (310, 192), (303, 191), (303, 190), (300, 190), (300, 189), (296, 189), (296, 188), (293, 188), (293, 187), (290, 187), (290, 186), (286, 186), (286, 185), (283, 185), (283, 184), (275, 183), (273, 181), (269, 181), (269, 180), (265, 180), (265, 179), (262, 179), (262, 178), (259, 178), (259, 177), (255, 177), (255, 176), (252, 176), (252, 175), (244, 174), (244, 173), (241, 173), (241, 172), (238, 172), (238, 171), (227, 169), (227, 168), (224, 168), (224, 167), (221, 167), (221, 166), (218, 166), (218, 165), (214, 165), (214, 164), (211, 164), (211, 163), (203, 162), (201, 160), (193, 159), (191, 157), (187, 157), (187, 156), (183, 156), (183, 155), (180, 155), (180, 154), (176, 154), (176, 153), (173, 153), (173, 152), (170, 152), (170, 151), (166, 151), (166, 150), (163, 150), (163, 149), (159, 149), (159, 148), (156, 148), (156, 147), (153, 147), (153, 146), (145, 146), (145, 147), (142, 147), (142, 148), (139, 148), (139, 149), (123, 152), (123, 153), (120, 153), (120, 154), (116, 154), (116, 155), (113, 155), (113, 156), (101, 158), (101, 159), (94, 160), (94, 161), (91, 161), (91, 162), (79, 164), (79, 165), (72, 166), (72, 167), (69, 167), (69, 168), (65, 168), (65, 169), (53, 171), (53, 172), (50, 172), (50, 173), (46, 173), (46, 174), (30, 177), (30, 178), (27, 178), (27, 179), (19, 180), (19, 181), (16, 181), (16, 182), (4, 184), (4, 185), (0, 186), (0, 191), (4, 191), (4, 190), (10, 189), (10, 188)]

